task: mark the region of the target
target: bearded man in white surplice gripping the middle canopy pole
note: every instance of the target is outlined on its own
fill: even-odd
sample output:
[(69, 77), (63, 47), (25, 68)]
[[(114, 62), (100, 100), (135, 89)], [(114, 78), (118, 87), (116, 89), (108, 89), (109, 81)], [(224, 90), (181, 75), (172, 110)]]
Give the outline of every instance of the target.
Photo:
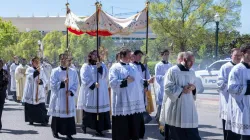
[(86, 133), (86, 127), (88, 127), (96, 130), (98, 136), (104, 136), (102, 131), (111, 129), (110, 102), (106, 81), (108, 69), (104, 63), (97, 62), (97, 60), (97, 51), (93, 50), (88, 54), (88, 63), (83, 64), (81, 68), (82, 85), (77, 109), (82, 109), (84, 112), (82, 120), (84, 133)]

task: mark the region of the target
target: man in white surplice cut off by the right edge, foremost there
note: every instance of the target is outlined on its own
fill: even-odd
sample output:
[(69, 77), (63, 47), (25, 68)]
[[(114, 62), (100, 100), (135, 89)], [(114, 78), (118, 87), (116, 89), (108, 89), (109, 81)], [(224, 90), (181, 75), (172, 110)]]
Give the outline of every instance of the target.
[(231, 100), (231, 121), (226, 127), (241, 135), (241, 140), (250, 139), (250, 44), (240, 48), (242, 62), (233, 67), (228, 78), (228, 92)]

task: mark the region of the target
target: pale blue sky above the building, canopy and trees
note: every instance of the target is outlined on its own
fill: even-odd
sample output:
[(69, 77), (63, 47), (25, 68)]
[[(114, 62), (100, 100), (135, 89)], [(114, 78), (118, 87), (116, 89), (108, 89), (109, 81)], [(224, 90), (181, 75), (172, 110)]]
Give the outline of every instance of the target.
[[(57, 16), (65, 15), (67, 0), (0, 0), (0, 17)], [(69, 0), (71, 10), (79, 16), (95, 11), (96, 0)], [(241, 0), (241, 34), (250, 34), (250, 0)], [(102, 0), (103, 10), (112, 13), (130, 13), (142, 10), (145, 0)]]

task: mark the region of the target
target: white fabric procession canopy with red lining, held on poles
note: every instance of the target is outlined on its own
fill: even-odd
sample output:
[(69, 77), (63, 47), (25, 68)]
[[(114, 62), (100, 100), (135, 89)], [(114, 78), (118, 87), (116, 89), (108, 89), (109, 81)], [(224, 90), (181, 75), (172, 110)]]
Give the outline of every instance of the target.
[[(147, 7), (129, 18), (113, 17), (102, 11), (101, 6), (97, 8), (96, 12), (99, 12), (99, 36), (129, 35), (147, 27)], [(96, 12), (89, 17), (80, 18), (68, 9), (65, 21), (68, 31), (76, 35), (87, 33), (91, 36), (96, 36)]]

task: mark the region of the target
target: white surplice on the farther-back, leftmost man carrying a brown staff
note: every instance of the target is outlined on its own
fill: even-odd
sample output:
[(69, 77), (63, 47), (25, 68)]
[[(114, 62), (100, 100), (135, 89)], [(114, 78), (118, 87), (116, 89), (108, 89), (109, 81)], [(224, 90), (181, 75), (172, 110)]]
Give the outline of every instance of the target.
[[(37, 86), (38, 76), (34, 78), (33, 77), (34, 72), (35, 69), (33, 67), (27, 68), (25, 72), (26, 82), (25, 82), (22, 102), (37, 105), (45, 102), (45, 87), (48, 83), (48, 80), (44, 74), (43, 69), (41, 69), (39, 74), (39, 79), (42, 80), (43, 84)], [(38, 88), (38, 101), (36, 101), (37, 88)]]

